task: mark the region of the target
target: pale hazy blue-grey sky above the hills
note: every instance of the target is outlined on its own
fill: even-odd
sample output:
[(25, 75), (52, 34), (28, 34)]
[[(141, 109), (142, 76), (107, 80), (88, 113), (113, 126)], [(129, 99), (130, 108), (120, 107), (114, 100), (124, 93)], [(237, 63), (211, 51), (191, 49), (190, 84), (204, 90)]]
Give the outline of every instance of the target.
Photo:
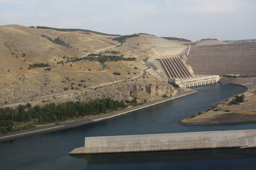
[(0, 25), (149, 33), (192, 41), (256, 39), (255, 0), (0, 0)]

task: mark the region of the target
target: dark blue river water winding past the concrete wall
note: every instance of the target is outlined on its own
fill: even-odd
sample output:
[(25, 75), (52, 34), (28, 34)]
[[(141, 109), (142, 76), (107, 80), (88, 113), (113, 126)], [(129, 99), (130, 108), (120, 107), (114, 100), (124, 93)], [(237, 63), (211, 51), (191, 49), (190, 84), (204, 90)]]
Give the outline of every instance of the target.
[(176, 122), (246, 90), (215, 84), (197, 92), (115, 118), (0, 143), (0, 169), (254, 169), (254, 149), (67, 155), (84, 137), (256, 129), (256, 123), (183, 126)]

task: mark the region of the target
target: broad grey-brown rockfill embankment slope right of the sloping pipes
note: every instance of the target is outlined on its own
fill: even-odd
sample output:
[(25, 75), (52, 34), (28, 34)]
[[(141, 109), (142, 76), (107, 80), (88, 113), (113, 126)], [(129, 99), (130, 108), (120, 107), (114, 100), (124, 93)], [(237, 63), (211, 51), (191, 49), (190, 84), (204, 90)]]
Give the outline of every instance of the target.
[(195, 73), (256, 73), (256, 43), (191, 46), (188, 61)]

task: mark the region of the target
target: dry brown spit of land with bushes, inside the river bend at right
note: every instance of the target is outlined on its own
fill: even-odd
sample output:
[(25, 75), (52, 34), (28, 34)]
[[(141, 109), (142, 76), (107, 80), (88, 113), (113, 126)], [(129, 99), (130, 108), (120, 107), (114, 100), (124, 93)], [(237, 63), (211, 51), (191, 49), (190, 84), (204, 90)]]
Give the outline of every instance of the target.
[(195, 115), (178, 121), (180, 125), (212, 125), (237, 124), (256, 122), (256, 91), (255, 78), (221, 78), (218, 83), (242, 85), (247, 88), (243, 94), (245, 99), (239, 105), (228, 105), (234, 96), (214, 103), (216, 107), (210, 111), (204, 110)]

